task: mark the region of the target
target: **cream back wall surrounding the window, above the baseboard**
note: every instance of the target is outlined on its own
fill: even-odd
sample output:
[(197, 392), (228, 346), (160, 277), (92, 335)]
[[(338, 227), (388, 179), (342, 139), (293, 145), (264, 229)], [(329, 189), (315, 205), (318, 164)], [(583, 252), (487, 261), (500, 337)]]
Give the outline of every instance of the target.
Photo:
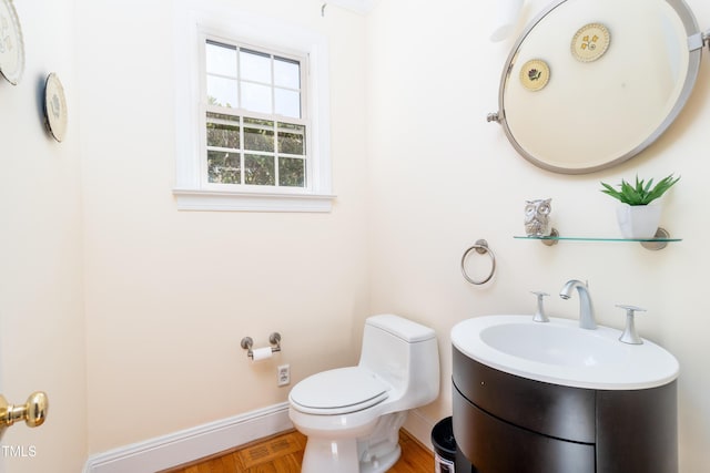
[[(368, 313), (364, 19), (322, 2), (225, 1), (324, 34), (331, 51), (329, 214), (178, 212), (173, 4), (78, 2), (89, 451), (283, 402), (354, 363)], [(283, 351), (252, 366), (240, 340)]]

